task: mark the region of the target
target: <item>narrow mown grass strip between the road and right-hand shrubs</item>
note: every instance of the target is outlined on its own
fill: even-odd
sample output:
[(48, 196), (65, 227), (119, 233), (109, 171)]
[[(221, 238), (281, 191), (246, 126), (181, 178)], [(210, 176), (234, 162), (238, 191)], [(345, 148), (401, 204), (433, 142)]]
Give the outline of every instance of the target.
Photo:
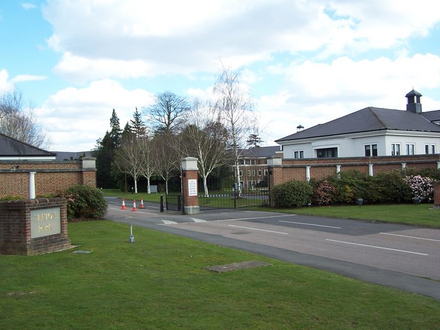
[[(317, 217), (333, 217), (344, 219), (361, 219), (368, 221), (384, 221), (421, 225), (430, 228), (440, 228), (440, 210), (434, 209), (433, 204), (383, 204), (364, 206), (321, 206), (310, 208), (278, 209), (276, 212), (291, 214), (306, 214)], [(267, 210), (261, 208), (261, 210)]]

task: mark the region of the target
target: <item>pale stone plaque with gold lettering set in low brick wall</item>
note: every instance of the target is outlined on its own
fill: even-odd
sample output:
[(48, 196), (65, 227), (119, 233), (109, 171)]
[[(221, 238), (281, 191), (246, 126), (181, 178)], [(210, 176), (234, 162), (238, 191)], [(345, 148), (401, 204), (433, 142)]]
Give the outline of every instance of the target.
[(60, 208), (43, 208), (30, 211), (30, 235), (32, 239), (60, 233)]

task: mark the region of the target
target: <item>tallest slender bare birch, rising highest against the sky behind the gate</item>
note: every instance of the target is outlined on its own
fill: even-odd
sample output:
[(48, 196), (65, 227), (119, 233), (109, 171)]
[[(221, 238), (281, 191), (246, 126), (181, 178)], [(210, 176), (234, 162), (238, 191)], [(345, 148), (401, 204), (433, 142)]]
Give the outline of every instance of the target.
[(214, 94), (217, 96), (215, 108), (219, 111), (221, 122), (228, 129), (239, 195), (241, 195), (239, 158), (246, 146), (246, 139), (250, 133), (253, 133), (257, 121), (254, 115), (254, 102), (247, 89), (241, 85), (240, 78), (239, 71), (232, 71), (223, 66), (214, 85)]

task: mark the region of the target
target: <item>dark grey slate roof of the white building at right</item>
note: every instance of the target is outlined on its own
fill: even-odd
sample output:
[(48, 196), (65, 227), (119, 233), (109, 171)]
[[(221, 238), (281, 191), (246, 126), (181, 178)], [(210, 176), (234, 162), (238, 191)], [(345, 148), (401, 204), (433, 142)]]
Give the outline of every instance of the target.
[(304, 131), (287, 135), (275, 142), (383, 130), (440, 133), (440, 126), (430, 122), (423, 115), (411, 111), (367, 107), (325, 124), (318, 124)]

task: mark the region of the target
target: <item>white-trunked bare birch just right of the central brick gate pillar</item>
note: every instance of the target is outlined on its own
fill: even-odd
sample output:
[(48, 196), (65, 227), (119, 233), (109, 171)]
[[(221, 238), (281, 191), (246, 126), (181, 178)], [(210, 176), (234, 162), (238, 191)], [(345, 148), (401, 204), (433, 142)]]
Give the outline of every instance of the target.
[(213, 109), (203, 107), (199, 100), (193, 102), (190, 124), (182, 131), (187, 153), (197, 157), (203, 190), (209, 197), (207, 179), (212, 170), (230, 162), (228, 130), (221, 124)]

